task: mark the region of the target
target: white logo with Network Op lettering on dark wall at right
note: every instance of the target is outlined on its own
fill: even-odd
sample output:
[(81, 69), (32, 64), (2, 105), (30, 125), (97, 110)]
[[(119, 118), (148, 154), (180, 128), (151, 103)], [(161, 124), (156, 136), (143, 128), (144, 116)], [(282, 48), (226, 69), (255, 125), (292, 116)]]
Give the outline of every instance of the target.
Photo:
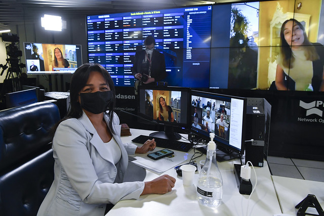
[(323, 101), (305, 103), (304, 101), (300, 100), (299, 107), (303, 108), (303, 117), (298, 117), (297, 121), (324, 123), (324, 119), (320, 118), (323, 117)]

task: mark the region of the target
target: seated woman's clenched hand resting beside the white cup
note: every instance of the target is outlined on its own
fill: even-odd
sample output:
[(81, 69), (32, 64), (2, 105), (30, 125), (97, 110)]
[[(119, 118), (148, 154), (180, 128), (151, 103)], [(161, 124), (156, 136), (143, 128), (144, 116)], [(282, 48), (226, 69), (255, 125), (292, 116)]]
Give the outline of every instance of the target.
[(150, 182), (145, 182), (144, 190), (141, 195), (145, 194), (165, 194), (172, 190), (176, 179), (169, 176), (163, 175)]

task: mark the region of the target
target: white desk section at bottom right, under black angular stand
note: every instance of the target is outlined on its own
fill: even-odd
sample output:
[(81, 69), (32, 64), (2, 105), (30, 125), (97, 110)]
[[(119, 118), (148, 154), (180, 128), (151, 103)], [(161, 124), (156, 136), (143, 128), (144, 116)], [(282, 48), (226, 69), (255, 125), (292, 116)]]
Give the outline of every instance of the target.
[(324, 182), (272, 176), (282, 213), (296, 215), (295, 206), (308, 194), (314, 194), (324, 209)]

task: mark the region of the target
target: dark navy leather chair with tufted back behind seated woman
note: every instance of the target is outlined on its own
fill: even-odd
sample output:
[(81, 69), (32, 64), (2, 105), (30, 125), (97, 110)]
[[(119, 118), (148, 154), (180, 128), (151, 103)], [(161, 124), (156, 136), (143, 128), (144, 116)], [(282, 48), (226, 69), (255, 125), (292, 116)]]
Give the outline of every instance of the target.
[(49, 102), (0, 111), (0, 215), (36, 215), (54, 180)]

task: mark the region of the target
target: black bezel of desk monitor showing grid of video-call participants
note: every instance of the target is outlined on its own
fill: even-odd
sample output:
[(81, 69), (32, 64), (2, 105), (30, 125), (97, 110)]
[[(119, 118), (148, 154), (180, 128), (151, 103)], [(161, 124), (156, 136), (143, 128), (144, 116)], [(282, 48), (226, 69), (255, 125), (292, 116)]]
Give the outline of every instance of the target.
[[(243, 108), (243, 119), (242, 119), (242, 136), (241, 136), (241, 149), (236, 149), (235, 147), (226, 144), (224, 142), (222, 142), (223, 140), (218, 139), (218, 137), (215, 136), (214, 141), (217, 144), (217, 146), (221, 146), (224, 147), (228, 150), (237, 152), (240, 155), (244, 155), (244, 151), (245, 151), (245, 137), (246, 137), (246, 122), (247, 122), (247, 98), (243, 98), (243, 97), (237, 97), (237, 96), (232, 96), (232, 95), (223, 95), (223, 94), (217, 94), (217, 93), (211, 93), (211, 92), (202, 92), (202, 91), (196, 91), (196, 90), (191, 90), (190, 91), (190, 100), (192, 98), (192, 96), (198, 96), (198, 97), (204, 97), (204, 98), (211, 98), (211, 99), (215, 99), (215, 100), (219, 100), (219, 98), (227, 98), (227, 99), (239, 99), (239, 100), (243, 100), (244, 101), (244, 108)], [(218, 99), (217, 99), (218, 98)], [(189, 104), (190, 108), (191, 108), (191, 103)], [(189, 109), (189, 108), (188, 108)], [(191, 115), (188, 115), (189, 117)], [(198, 133), (196, 132), (194, 129), (192, 129), (191, 127), (191, 120), (189, 119), (190, 122), (188, 122), (189, 125), (189, 129), (191, 133), (197, 134), (198, 136), (205, 138), (206, 140), (210, 140), (210, 137), (207, 136), (206, 134), (203, 133)]]

